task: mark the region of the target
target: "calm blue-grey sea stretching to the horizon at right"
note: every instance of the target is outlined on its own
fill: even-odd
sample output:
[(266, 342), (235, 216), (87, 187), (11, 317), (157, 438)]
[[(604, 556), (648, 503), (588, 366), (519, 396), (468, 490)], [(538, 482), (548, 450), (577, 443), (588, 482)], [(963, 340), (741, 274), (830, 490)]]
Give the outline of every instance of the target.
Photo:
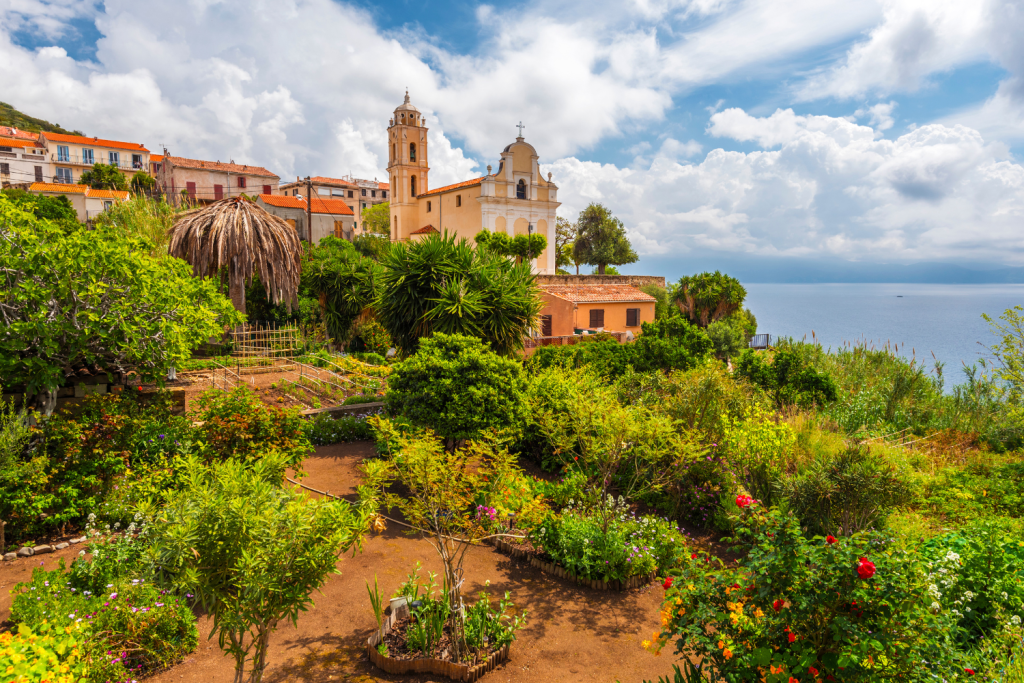
[(982, 317), (1024, 306), (1024, 285), (745, 284), (744, 307), (758, 332), (816, 340), (824, 347), (887, 344), (934, 372), (945, 388), (965, 381), (964, 366), (991, 359), (997, 341)]

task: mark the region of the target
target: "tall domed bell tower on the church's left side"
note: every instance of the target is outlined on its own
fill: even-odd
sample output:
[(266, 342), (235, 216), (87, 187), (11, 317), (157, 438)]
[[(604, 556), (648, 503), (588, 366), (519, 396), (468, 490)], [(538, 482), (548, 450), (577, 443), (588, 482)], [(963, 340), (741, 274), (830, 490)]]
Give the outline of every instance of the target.
[(427, 191), (427, 128), (423, 115), (406, 101), (394, 111), (388, 125), (388, 174), (391, 176), (391, 239), (404, 240), (423, 227), (420, 203), (416, 199)]

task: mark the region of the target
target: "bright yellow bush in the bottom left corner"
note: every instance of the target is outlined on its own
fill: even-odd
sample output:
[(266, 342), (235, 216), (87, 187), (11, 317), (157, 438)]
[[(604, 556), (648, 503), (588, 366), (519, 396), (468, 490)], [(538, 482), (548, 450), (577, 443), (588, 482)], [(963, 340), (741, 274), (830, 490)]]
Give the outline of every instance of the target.
[(22, 624), (16, 633), (0, 633), (0, 681), (3, 683), (77, 683), (85, 673), (83, 634), (76, 625), (36, 629)]

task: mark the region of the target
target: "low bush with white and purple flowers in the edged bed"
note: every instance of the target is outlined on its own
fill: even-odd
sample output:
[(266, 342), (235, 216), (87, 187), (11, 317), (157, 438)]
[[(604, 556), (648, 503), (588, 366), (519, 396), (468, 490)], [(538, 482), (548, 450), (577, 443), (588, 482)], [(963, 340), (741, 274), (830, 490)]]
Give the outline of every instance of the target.
[(638, 517), (623, 499), (609, 502), (614, 516), (604, 532), (603, 516), (566, 507), (549, 514), (529, 532), (530, 541), (578, 577), (615, 581), (673, 566), (683, 553), (683, 537), (668, 520)]

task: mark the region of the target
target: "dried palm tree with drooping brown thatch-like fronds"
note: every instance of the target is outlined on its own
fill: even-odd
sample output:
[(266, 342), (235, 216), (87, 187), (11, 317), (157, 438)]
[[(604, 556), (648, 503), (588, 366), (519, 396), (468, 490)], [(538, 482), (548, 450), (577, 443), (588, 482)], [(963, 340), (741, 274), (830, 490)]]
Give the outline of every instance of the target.
[(244, 197), (186, 211), (170, 230), (171, 256), (200, 278), (226, 275), (234, 307), (246, 312), (246, 285), (258, 273), (272, 303), (298, 301), (301, 246), (295, 228)]

